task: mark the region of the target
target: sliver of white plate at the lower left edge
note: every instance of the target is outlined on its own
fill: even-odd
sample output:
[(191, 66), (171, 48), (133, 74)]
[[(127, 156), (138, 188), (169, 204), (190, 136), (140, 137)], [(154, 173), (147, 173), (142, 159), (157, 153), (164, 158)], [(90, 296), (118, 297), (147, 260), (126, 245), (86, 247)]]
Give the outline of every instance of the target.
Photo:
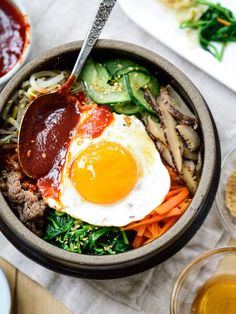
[(0, 313), (10, 314), (11, 312), (11, 293), (7, 278), (0, 268)]

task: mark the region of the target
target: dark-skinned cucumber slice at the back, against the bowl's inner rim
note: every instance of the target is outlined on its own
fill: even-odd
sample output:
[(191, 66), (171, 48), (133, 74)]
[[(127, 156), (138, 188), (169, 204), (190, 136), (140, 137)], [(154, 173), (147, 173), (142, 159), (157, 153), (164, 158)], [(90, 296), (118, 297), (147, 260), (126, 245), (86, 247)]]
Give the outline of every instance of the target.
[(121, 76), (133, 71), (140, 71), (147, 74), (149, 73), (143, 66), (126, 59), (111, 59), (103, 62), (103, 65), (113, 79), (120, 78)]

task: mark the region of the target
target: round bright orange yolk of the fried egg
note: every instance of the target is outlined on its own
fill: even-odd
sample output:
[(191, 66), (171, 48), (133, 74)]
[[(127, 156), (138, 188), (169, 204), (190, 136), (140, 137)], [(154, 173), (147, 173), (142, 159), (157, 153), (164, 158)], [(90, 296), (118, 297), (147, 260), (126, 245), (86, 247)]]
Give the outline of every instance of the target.
[(71, 181), (87, 201), (110, 204), (135, 186), (138, 168), (131, 153), (113, 142), (92, 144), (73, 161)]

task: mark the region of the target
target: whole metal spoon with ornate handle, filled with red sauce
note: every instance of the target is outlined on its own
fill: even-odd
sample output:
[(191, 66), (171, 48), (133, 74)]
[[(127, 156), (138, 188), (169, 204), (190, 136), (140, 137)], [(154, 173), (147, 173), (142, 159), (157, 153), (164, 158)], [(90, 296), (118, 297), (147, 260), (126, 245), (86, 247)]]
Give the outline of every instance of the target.
[(79, 120), (77, 99), (69, 91), (79, 76), (108, 20), (116, 0), (102, 0), (89, 28), (70, 77), (56, 92), (33, 100), (22, 119), (18, 157), (22, 170), (32, 178), (45, 176), (64, 153), (71, 130)]

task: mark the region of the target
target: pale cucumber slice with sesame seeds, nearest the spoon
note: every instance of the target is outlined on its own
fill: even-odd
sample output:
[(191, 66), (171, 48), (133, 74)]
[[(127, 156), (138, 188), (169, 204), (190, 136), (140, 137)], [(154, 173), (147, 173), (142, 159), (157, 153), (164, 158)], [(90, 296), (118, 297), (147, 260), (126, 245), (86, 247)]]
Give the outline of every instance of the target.
[(122, 77), (113, 85), (109, 84), (110, 75), (106, 68), (89, 59), (82, 71), (81, 78), (89, 97), (98, 104), (110, 104), (130, 101), (125, 80)]

